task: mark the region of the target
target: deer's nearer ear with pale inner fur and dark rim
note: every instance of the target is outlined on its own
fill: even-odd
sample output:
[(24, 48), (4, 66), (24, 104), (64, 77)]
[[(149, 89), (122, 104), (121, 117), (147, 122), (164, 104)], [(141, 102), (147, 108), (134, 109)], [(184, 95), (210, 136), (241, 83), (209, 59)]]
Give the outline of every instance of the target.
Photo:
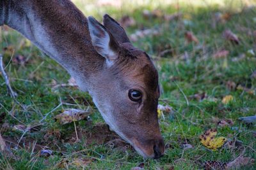
[(118, 42), (95, 18), (88, 17), (88, 26), (93, 47), (106, 59), (107, 65), (112, 66), (118, 58)]

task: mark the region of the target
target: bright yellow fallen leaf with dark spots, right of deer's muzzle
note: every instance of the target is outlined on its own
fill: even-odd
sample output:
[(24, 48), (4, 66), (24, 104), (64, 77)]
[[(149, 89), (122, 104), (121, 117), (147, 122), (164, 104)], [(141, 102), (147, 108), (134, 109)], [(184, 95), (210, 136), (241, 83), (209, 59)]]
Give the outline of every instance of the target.
[(204, 134), (199, 137), (199, 139), (204, 146), (213, 151), (216, 151), (217, 148), (220, 148), (225, 143), (225, 141), (227, 141), (227, 138), (224, 137), (215, 138), (216, 134), (216, 129), (209, 129), (205, 131)]

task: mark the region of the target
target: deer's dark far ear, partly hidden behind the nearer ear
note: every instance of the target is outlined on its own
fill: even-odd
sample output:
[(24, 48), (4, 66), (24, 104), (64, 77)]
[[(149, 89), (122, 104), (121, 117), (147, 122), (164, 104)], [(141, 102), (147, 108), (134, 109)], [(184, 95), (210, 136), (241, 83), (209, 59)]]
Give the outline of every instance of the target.
[(111, 18), (108, 14), (105, 14), (103, 17), (103, 24), (108, 29), (115, 39), (120, 43), (130, 43), (130, 40), (120, 24)]

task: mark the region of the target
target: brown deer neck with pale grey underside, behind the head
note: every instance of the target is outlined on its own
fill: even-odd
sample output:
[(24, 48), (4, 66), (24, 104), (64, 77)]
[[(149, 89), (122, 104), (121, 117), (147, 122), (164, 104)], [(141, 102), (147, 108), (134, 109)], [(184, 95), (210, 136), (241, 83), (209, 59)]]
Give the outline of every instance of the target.
[(78, 81), (102, 69), (104, 60), (93, 50), (87, 18), (68, 0), (2, 0), (3, 24), (23, 34)]

